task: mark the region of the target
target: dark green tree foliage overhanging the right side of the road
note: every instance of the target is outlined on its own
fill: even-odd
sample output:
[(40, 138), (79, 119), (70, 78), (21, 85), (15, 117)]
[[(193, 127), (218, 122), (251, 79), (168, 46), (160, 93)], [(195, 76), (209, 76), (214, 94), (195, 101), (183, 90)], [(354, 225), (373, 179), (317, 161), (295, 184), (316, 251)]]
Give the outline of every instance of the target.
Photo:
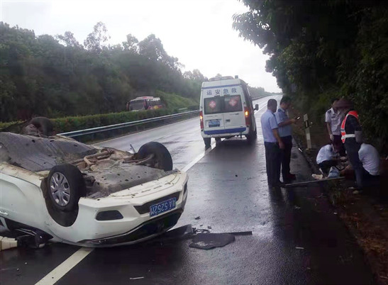
[[(333, 97), (353, 99), (365, 133), (381, 149), (388, 138), (386, 1), (243, 0), (240, 36), (270, 55), (267, 71), (311, 115)], [(387, 149), (385, 149), (387, 151)]]

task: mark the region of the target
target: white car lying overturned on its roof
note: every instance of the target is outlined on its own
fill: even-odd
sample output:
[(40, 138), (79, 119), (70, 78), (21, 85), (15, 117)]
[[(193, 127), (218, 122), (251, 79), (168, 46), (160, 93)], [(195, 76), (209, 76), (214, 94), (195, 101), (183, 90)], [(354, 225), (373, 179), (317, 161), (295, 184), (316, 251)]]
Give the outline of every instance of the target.
[(187, 174), (160, 143), (130, 153), (0, 133), (0, 147), (0, 225), (37, 245), (140, 242), (172, 228), (186, 203)]

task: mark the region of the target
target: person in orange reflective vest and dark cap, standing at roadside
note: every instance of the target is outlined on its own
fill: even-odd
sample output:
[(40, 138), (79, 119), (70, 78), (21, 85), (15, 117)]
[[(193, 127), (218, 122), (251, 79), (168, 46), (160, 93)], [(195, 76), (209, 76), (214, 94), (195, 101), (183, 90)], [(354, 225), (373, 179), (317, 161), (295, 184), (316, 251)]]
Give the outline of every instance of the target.
[(345, 113), (345, 118), (340, 125), (341, 139), (345, 145), (349, 162), (355, 171), (357, 188), (359, 191), (362, 191), (362, 187), (364, 186), (362, 181), (363, 169), (362, 162), (358, 156), (358, 151), (362, 143), (362, 129), (358, 119), (358, 113), (353, 110), (353, 103), (348, 99), (338, 100), (335, 106)]

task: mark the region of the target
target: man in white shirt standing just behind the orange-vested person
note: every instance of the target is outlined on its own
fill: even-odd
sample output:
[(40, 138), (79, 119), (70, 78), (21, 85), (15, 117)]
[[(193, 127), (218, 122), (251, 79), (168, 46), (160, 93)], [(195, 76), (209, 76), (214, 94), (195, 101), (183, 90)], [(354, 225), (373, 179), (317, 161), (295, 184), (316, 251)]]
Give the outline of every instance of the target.
[(340, 135), (340, 125), (344, 118), (344, 113), (340, 112), (336, 107), (335, 103), (338, 101), (338, 98), (331, 101), (331, 108), (326, 111), (325, 122), (328, 129), (328, 135), (330, 137), (331, 143), (333, 144), (336, 152), (340, 154), (341, 157), (345, 156), (345, 147), (341, 141)]

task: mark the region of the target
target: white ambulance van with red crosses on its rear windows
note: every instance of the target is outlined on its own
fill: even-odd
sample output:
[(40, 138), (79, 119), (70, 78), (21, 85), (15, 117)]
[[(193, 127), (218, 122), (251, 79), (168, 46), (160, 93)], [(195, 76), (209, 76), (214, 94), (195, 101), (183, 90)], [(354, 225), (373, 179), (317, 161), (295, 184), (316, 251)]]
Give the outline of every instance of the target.
[(199, 103), (201, 135), (206, 147), (235, 135), (245, 135), (249, 142), (257, 138), (255, 110), (247, 84), (233, 77), (214, 77), (202, 83)]

